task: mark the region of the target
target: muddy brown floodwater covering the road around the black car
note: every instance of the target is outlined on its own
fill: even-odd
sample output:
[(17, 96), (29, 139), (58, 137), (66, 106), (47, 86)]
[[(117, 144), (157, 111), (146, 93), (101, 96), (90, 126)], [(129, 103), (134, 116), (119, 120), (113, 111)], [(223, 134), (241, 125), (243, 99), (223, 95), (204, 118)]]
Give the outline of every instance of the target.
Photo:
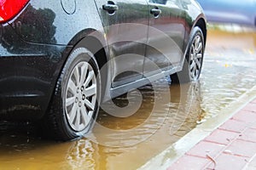
[(0, 122), (0, 169), (136, 169), (253, 88), (255, 68), (255, 31), (211, 29), (200, 82), (166, 77), (113, 99), (84, 139), (55, 142), (31, 122)]

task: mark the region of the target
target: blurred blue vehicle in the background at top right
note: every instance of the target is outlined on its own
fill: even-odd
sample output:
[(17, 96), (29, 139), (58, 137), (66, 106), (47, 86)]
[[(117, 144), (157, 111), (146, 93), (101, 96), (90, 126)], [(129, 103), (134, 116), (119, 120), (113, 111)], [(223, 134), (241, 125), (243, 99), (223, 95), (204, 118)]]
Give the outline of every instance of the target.
[(197, 0), (209, 22), (256, 26), (256, 0)]

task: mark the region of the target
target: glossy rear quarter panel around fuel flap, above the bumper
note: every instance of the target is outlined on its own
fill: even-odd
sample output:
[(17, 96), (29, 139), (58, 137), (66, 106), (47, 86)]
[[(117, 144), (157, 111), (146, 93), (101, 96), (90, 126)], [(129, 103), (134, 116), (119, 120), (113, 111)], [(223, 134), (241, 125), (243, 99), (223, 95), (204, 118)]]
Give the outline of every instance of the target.
[[(76, 0), (76, 6), (79, 8), (73, 14), (67, 14), (59, 0), (48, 3), (31, 0), (9, 24), (26, 42), (65, 46), (81, 31), (102, 31), (101, 19), (93, 0)], [(90, 11), (90, 16), (86, 11)]]

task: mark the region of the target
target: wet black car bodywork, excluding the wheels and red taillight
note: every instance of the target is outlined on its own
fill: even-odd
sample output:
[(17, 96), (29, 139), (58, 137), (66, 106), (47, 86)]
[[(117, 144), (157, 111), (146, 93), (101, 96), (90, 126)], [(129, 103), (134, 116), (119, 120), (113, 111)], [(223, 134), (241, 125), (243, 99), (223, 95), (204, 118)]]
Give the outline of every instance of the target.
[[(137, 26), (128, 27), (127, 31), (127, 25), (120, 25), (124, 23), (137, 24), (142, 29), (140, 37), (131, 36), (137, 32)], [(174, 40), (175, 48), (159, 47), (164, 51), (177, 50), (169, 56), (172, 63), (145, 45), (163, 41), (161, 37), (155, 38), (154, 31), (148, 32), (148, 26)], [(61, 87), (58, 81), (75, 48), (90, 49), (98, 67), (104, 70), (102, 101), (147, 84), (148, 78), (137, 72), (156, 80), (181, 71), (189, 35), (195, 26), (201, 28), (206, 39), (206, 20), (195, 1), (28, 1), (14, 18), (2, 22), (0, 27), (1, 119), (44, 118)], [(123, 41), (121, 35), (129, 38)], [(141, 58), (127, 57), (125, 63), (116, 59), (124, 54), (146, 56), (160, 67), (160, 72), (147, 67)]]

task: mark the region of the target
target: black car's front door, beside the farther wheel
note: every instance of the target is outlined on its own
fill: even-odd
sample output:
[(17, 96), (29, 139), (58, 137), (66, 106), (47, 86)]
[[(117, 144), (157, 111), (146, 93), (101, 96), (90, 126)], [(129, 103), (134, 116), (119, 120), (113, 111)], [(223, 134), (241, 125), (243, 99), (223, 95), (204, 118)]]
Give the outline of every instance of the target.
[(144, 74), (152, 75), (181, 64), (185, 22), (180, 7), (179, 0), (148, 0), (150, 15)]

